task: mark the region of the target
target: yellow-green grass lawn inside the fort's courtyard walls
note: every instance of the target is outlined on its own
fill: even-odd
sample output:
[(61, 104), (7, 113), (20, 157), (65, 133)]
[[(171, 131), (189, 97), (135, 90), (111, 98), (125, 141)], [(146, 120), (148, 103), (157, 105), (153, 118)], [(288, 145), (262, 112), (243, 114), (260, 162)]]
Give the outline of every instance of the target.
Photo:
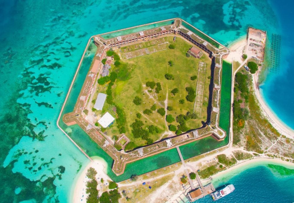
[[(145, 109), (150, 109), (153, 104), (156, 104), (156, 109), (164, 108), (164, 101), (168, 96), (168, 106), (172, 106), (173, 110), (168, 111), (167, 114), (172, 114), (176, 118), (179, 114), (186, 114), (187, 111), (193, 113), (194, 102), (188, 102), (186, 100), (187, 92), (186, 87), (193, 87), (196, 89), (197, 79), (192, 81), (190, 79), (193, 75), (198, 75), (198, 64), (199, 61), (207, 63), (205, 88), (203, 94), (203, 106), (202, 115), (198, 119), (190, 119), (186, 125), (189, 129), (197, 128), (201, 126), (201, 121), (206, 121), (206, 110), (208, 105), (208, 86), (210, 75), (211, 60), (207, 55), (203, 55), (201, 59), (194, 57), (186, 57), (186, 52), (191, 48), (191, 44), (181, 38), (177, 38), (174, 43), (173, 37), (168, 37), (169, 44), (174, 44), (175, 49), (169, 49), (166, 44), (166, 50), (159, 51), (156, 53), (143, 55), (127, 60), (122, 60), (121, 65), (113, 68), (118, 73), (118, 79), (112, 87), (113, 101), (116, 105), (121, 107), (126, 116), (126, 136), (134, 142), (137, 146), (145, 145), (146, 141), (141, 138), (134, 138), (130, 125), (138, 119), (137, 113), (141, 113), (141, 120), (144, 123), (143, 129), (147, 126), (154, 125), (159, 128), (159, 133), (149, 133), (149, 138), (153, 141), (161, 138), (164, 131), (168, 131), (165, 124), (165, 116), (161, 116), (157, 111), (153, 111), (151, 115), (143, 114)], [(148, 42), (147, 42), (148, 43)], [(133, 46), (133, 45), (132, 45)], [(143, 45), (143, 47), (145, 47)], [(124, 48), (125, 49), (125, 48)], [(115, 50), (121, 54), (120, 50)], [(168, 61), (173, 61), (173, 66), (168, 64)], [(174, 80), (167, 80), (165, 74), (172, 74)], [(155, 88), (152, 92), (147, 92), (150, 88), (146, 87), (146, 82), (154, 81), (160, 82), (162, 90), (157, 94)], [(99, 87), (101, 90), (106, 90), (105, 85)], [(105, 89), (104, 89), (105, 88)], [(174, 96), (171, 94), (171, 90), (178, 88), (179, 92)], [(142, 99), (141, 105), (135, 105), (133, 99), (135, 97)], [(184, 99), (184, 104), (179, 104), (179, 100)], [(108, 111), (111, 113), (111, 106), (105, 102), (103, 112)], [(111, 113), (113, 114), (113, 112)], [(174, 121), (173, 125), (177, 126), (178, 123)], [(116, 125), (112, 125), (107, 129), (108, 135), (118, 135), (118, 129)]]

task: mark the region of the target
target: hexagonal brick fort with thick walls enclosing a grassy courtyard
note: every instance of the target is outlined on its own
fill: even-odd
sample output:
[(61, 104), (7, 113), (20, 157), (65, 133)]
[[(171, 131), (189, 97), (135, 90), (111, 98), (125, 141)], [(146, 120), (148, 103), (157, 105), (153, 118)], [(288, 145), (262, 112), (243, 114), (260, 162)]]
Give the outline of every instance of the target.
[[(91, 42), (91, 40), (89, 40)], [(218, 126), (223, 45), (182, 19), (94, 35), (96, 55), (64, 114), (113, 158), (126, 163), (212, 136)], [(87, 46), (87, 47), (88, 47)]]

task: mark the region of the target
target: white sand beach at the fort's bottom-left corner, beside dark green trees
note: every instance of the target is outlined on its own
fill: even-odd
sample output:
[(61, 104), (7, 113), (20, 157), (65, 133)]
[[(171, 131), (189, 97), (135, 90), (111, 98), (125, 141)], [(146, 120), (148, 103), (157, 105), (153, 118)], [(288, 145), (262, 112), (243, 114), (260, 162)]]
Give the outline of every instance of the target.
[[(107, 182), (107, 180), (111, 181), (111, 179), (106, 175), (104, 171), (107, 170), (108, 164), (106, 161), (100, 157), (92, 157), (93, 162), (90, 162), (83, 171), (79, 172), (79, 174), (76, 177), (76, 182), (73, 183), (73, 188), (71, 192), (71, 201), (74, 203), (78, 202), (86, 202), (87, 194), (86, 194), (86, 183), (89, 180), (88, 177), (86, 177), (86, 173), (88, 168), (92, 167), (97, 171), (96, 180), (98, 182), (98, 190), (100, 190), (100, 187), (103, 187), (103, 185)], [(104, 170), (104, 171), (103, 171)], [(100, 179), (103, 178), (104, 183), (101, 184)]]

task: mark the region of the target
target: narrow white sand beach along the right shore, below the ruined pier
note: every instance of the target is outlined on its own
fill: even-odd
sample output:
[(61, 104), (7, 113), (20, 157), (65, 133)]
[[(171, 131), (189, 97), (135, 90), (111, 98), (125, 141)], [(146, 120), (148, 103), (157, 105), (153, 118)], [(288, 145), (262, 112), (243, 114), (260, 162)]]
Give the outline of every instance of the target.
[(287, 136), (288, 138), (294, 138), (294, 131), (290, 127), (288, 127), (286, 124), (284, 124), (274, 113), (273, 111), (265, 104), (265, 101), (263, 100), (260, 91), (258, 89), (258, 75), (259, 71), (253, 75), (253, 87), (255, 96), (258, 99), (258, 102), (260, 103), (260, 107), (262, 109), (263, 114), (267, 119), (270, 121), (270, 123), (273, 125), (273, 127), (278, 130), (279, 133), (282, 135)]

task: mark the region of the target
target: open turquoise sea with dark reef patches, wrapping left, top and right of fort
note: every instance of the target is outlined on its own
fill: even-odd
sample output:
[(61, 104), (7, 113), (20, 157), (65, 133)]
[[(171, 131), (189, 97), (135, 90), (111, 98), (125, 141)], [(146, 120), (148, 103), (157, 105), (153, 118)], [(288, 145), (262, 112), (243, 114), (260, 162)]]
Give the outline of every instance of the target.
[[(275, 113), (293, 127), (294, 110), (287, 106), (293, 104), (294, 94), (286, 94), (293, 91), (291, 4), (266, 0), (2, 0), (0, 202), (68, 202), (74, 177), (88, 160), (56, 127), (56, 120), (93, 34), (176, 17), (224, 45), (244, 36), (248, 26), (266, 29), (269, 36), (279, 33), (283, 68), (278, 74), (269, 73), (261, 88)], [(254, 16), (248, 15), (253, 12)], [(127, 167), (135, 170), (132, 165)]]

